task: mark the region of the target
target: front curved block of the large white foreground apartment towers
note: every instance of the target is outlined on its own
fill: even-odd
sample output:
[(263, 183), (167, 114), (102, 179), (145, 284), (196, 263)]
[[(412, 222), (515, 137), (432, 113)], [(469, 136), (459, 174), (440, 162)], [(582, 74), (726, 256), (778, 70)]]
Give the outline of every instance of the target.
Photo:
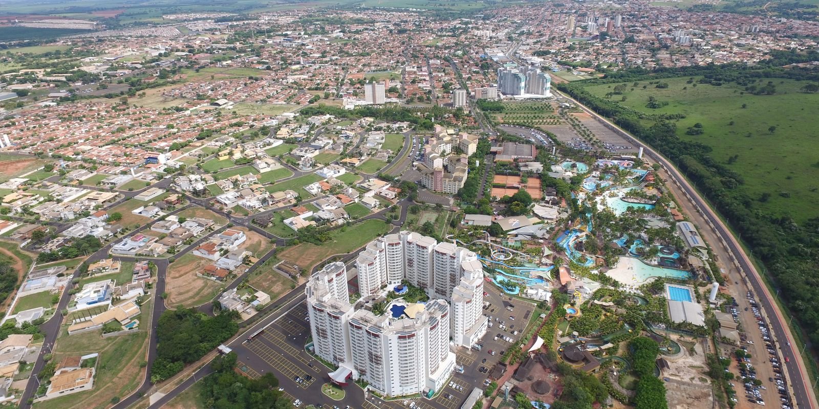
[(364, 380), (387, 396), (446, 386), (455, 353), (449, 348), (450, 306), (445, 300), (412, 304), (413, 312), (400, 318), (376, 316), (358, 308), (364, 300), (354, 307), (334, 299), (329, 275), (324, 270), (314, 274), (305, 291), (314, 352), (339, 367), (331, 379), (342, 384), (350, 378)]

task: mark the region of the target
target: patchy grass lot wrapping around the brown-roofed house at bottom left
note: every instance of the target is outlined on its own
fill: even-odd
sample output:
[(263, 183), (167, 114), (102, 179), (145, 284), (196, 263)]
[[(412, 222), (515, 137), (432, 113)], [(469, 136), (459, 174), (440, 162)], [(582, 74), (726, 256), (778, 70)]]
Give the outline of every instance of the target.
[[(148, 326), (151, 322), (152, 302), (144, 303), (141, 308), (142, 312), (135, 319), (141, 325)], [(110, 404), (112, 398), (124, 398), (138, 388), (145, 374), (145, 370), (140, 368), (140, 363), (145, 361), (147, 352), (147, 330), (102, 338), (101, 330), (68, 335), (66, 328), (67, 326), (63, 326), (60, 330), (60, 336), (54, 346), (54, 359), (60, 362), (62, 358), (70, 355), (98, 353), (94, 388), (34, 403), (34, 408), (105, 407)]]

